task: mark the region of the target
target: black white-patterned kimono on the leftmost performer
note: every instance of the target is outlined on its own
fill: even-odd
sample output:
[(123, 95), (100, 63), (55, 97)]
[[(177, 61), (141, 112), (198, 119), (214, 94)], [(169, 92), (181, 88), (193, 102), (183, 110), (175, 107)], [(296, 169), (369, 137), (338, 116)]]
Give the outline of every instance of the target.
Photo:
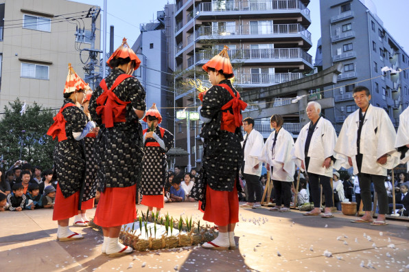
[[(67, 103), (75, 104), (73, 100), (67, 98), (62, 106)], [(58, 180), (62, 195), (67, 198), (80, 191), (84, 182), (84, 141), (75, 140), (73, 132), (82, 132), (86, 126), (86, 115), (78, 106), (69, 106), (62, 111), (62, 116), (67, 122), (65, 123), (67, 139), (57, 141), (54, 149), (54, 177)]]

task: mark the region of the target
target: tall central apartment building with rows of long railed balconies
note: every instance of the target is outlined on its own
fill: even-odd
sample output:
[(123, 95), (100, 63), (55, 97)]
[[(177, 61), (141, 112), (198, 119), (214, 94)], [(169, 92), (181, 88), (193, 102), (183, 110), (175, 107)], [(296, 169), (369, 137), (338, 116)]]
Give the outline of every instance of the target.
[[(240, 92), (296, 80), (311, 71), (312, 57), (307, 54), (312, 47), (307, 30), (311, 23), (308, 3), (309, 0), (176, 1), (176, 106), (195, 110), (199, 103), (197, 94), (185, 82), (208, 82), (201, 67), (224, 45), (230, 48), (233, 85)], [(191, 121), (191, 131), (187, 132), (186, 122), (176, 122), (176, 147), (187, 148), (190, 135), (190, 161), (194, 168), (202, 151), (200, 138), (194, 136), (200, 132), (200, 124)], [(270, 130), (266, 131), (268, 134)]]

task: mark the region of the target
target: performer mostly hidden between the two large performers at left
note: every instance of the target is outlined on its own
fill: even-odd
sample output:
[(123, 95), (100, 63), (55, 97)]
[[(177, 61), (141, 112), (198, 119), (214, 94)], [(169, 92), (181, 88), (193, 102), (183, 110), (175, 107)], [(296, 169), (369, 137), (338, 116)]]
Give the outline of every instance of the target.
[[(84, 107), (84, 113), (88, 121), (91, 121), (91, 115), (89, 115), (89, 100), (91, 100), (92, 90), (87, 84), (84, 100), (82, 106)], [(95, 194), (97, 194), (97, 160), (95, 157), (95, 143), (98, 131), (100, 128), (93, 128), (84, 138), (84, 150), (85, 150), (85, 180), (82, 185), (82, 203), (81, 210), (78, 211), (78, 216), (74, 218), (74, 225), (85, 227), (88, 226), (89, 218), (86, 217), (86, 210), (94, 207)]]

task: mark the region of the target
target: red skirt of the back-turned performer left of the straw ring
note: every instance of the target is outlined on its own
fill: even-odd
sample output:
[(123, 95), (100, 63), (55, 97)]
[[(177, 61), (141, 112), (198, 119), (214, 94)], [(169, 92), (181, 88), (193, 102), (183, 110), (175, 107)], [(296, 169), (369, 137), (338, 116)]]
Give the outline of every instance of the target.
[(137, 185), (125, 188), (105, 188), (95, 211), (94, 222), (100, 227), (117, 227), (137, 218)]

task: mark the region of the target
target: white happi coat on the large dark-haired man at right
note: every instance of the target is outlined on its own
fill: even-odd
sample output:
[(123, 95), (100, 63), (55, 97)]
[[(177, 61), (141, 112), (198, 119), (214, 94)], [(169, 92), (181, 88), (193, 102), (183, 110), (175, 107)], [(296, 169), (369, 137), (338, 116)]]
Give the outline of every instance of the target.
[[(353, 174), (358, 174), (356, 155), (358, 149), (356, 141), (358, 138), (358, 127), (360, 110), (351, 113), (342, 125), (338, 141), (334, 148), (336, 168), (340, 166), (350, 168), (348, 157), (351, 157)], [(362, 125), (360, 152), (362, 154), (361, 172), (366, 174), (377, 174), (386, 177), (387, 169), (391, 169), (399, 163), (399, 153), (395, 150), (395, 128), (384, 109), (369, 104), (366, 110), (364, 124)], [(377, 163), (377, 159), (388, 154), (384, 165)]]

